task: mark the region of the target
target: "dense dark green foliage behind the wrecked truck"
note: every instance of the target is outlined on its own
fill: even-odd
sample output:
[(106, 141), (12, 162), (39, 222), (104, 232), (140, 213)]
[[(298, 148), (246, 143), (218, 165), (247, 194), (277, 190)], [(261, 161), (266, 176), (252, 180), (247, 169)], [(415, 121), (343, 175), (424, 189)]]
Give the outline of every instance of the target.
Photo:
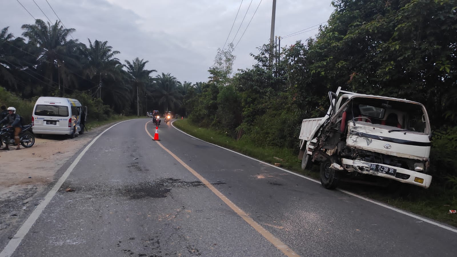
[[(185, 102), (190, 121), (234, 139), (298, 151), (301, 120), (321, 116), (316, 107), (327, 108), (327, 92), (338, 86), (406, 98), (426, 106), (436, 131), (434, 181), (457, 186), (457, 2), (332, 4), (335, 11), (315, 39), (275, 53), (263, 45), (251, 54), (257, 63), (231, 77), (234, 56), (219, 50), (212, 79)], [(270, 59), (278, 61), (271, 65)]]

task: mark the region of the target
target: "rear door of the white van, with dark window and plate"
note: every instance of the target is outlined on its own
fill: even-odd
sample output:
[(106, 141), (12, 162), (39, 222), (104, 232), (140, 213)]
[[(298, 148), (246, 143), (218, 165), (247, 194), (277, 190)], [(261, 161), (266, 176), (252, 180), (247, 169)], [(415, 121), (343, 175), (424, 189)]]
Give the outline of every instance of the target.
[(36, 119), (34, 129), (68, 131), (68, 124), (71, 123), (68, 106), (57, 104), (37, 104), (33, 114)]

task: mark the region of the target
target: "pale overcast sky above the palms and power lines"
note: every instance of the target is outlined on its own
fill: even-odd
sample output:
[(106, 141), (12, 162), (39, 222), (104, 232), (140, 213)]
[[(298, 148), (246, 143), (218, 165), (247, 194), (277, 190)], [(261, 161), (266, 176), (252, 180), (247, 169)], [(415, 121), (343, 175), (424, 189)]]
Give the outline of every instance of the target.
[[(38, 5), (55, 22), (57, 17), (49, 3), (65, 27), (76, 29), (72, 34), (75, 39), (85, 44), (88, 44), (87, 38), (92, 42), (108, 41), (108, 45), (121, 52), (116, 57), (122, 63), (139, 57), (149, 60), (146, 69), (158, 71), (152, 73), (153, 76), (170, 73), (181, 82), (195, 83), (208, 80), (207, 70), (214, 63), (217, 49), (223, 47), (234, 21), (228, 37), (228, 43), (237, 45), (239, 42), (233, 52), (236, 56), (234, 72), (252, 67), (254, 59), (250, 53), (257, 54), (256, 47), (268, 43), (270, 38), (273, 1), (48, 0), (47, 3), (35, 0), (36, 5), (33, 0), (1, 0), (0, 29), (9, 26), (9, 32), (16, 37), (23, 32), (22, 24), (34, 23), (19, 2), (33, 17), (47, 21)], [(277, 0), (275, 35), (283, 37), (327, 21), (334, 10), (330, 2)], [(305, 41), (318, 32), (308, 30), (282, 39), (281, 46)]]

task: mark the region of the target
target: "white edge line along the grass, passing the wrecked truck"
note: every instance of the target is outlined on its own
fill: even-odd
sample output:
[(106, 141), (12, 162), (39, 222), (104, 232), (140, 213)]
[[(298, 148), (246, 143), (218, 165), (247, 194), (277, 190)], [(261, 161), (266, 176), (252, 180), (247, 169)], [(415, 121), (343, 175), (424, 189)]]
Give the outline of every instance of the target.
[[(316, 183), (319, 183), (319, 184), (320, 184), (320, 181), (315, 180), (315, 179), (313, 179), (313, 178), (303, 176), (303, 175), (298, 174), (298, 173), (295, 173), (295, 172), (293, 172), (293, 171), (288, 171), (288, 170), (283, 169), (283, 168), (281, 168), (281, 167), (276, 167), (276, 166), (271, 165), (270, 163), (267, 163), (267, 162), (265, 162), (265, 161), (260, 161), (260, 160), (257, 160), (257, 159), (255, 159), (255, 158), (252, 158), (252, 157), (250, 157), (250, 156), (247, 156), (247, 155), (244, 155), (244, 154), (240, 154), (239, 152), (235, 152), (234, 150), (230, 150), (230, 149), (227, 149), (227, 148), (222, 147), (222, 146), (220, 146), (220, 145), (215, 145), (215, 144), (209, 143), (209, 142), (207, 142), (207, 141), (204, 141), (204, 140), (202, 140), (202, 139), (196, 138), (196, 137), (194, 137), (194, 136), (192, 136), (192, 135), (190, 135), (190, 134), (187, 134), (186, 132), (182, 131), (181, 129), (176, 128), (176, 127), (173, 125), (174, 122), (175, 122), (175, 121), (172, 121), (172, 122), (171, 122), (171, 126), (173, 126), (173, 128), (175, 128), (176, 130), (180, 131), (181, 133), (184, 133), (184, 134), (186, 134), (186, 135), (188, 135), (188, 136), (190, 136), (190, 137), (192, 137), (192, 138), (194, 138), (194, 139), (198, 139), (198, 140), (200, 140), (200, 141), (202, 141), (202, 142), (205, 142), (205, 143), (207, 143), (207, 144), (217, 146), (217, 147), (219, 147), (219, 148), (228, 150), (228, 151), (230, 151), (230, 152), (232, 152), (232, 153), (235, 153), (235, 154), (238, 154), (238, 155), (242, 155), (242, 156), (244, 156), (244, 157), (246, 157), (246, 158), (249, 158), (249, 159), (251, 159), (251, 160), (261, 162), (261, 163), (266, 164), (266, 165), (269, 165), (269, 166), (271, 166), (271, 167), (273, 167), (273, 168), (276, 168), (276, 169), (279, 169), (279, 170), (282, 170), (282, 171), (286, 171), (286, 172), (288, 172), (288, 173), (290, 173), (290, 174), (293, 174), (293, 175), (295, 175), (295, 176), (303, 177), (303, 178), (305, 178), (305, 179), (308, 179), (309, 181), (316, 182)], [(427, 219), (427, 218), (425, 218), (425, 217), (422, 217), (422, 216), (419, 216), (419, 215), (416, 215), (416, 214), (409, 213), (409, 212), (404, 211), (404, 210), (402, 210), (402, 209), (395, 208), (395, 207), (390, 206), (390, 205), (387, 205), (387, 204), (385, 204), (385, 203), (381, 203), (381, 202), (372, 200), (372, 199), (370, 199), (370, 198), (366, 198), (366, 197), (363, 197), (363, 196), (361, 196), (361, 195), (358, 195), (358, 194), (355, 194), (355, 193), (351, 193), (351, 192), (346, 191), (346, 190), (343, 190), (343, 189), (338, 189), (338, 188), (337, 188), (336, 190), (338, 190), (338, 191), (340, 191), (340, 192), (342, 192), (342, 193), (349, 194), (349, 195), (354, 196), (354, 197), (356, 197), (356, 198), (365, 200), (365, 201), (367, 201), (367, 202), (377, 204), (377, 205), (379, 205), (379, 206), (382, 206), (382, 207), (384, 207), (384, 208), (393, 210), (393, 211), (395, 211), (395, 212), (398, 212), (398, 213), (407, 215), (407, 216), (409, 216), (409, 217), (411, 217), (411, 218), (418, 219), (418, 220), (422, 220), (422, 221), (425, 221), (425, 222), (427, 222), (427, 223), (429, 223), (429, 224), (431, 224), (431, 225), (436, 225), (436, 226), (438, 226), (438, 227), (440, 227), (440, 228), (443, 228), (443, 229), (452, 231), (452, 232), (454, 232), (454, 233), (457, 233), (457, 229), (455, 229), (455, 228), (453, 228), (453, 227), (450, 227), (450, 226), (448, 226), (448, 225), (444, 225), (444, 224), (438, 223), (438, 222), (436, 222), (436, 221), (429, 220), (429, 219)], [(0, 256), (0, 257), (1, 257), (1, 256)]]

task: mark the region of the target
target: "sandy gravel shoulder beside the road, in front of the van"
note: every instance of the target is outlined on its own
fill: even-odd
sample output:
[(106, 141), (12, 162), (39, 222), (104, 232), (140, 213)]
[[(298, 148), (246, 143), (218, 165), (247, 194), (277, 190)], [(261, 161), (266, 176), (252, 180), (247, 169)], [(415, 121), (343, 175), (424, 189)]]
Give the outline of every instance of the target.
[(30, 148), (0, 150), (0, 252), (58, 180), (58, 170), (112, 124), (74, 139), (48, 135), (36, 138)]

